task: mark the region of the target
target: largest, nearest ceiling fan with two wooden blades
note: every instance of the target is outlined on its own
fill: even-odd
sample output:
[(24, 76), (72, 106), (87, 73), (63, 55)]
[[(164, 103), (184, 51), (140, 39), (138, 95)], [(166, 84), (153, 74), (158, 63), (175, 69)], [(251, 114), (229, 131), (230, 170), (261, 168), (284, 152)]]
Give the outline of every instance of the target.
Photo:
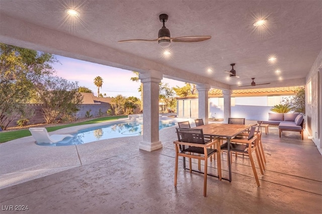
[(165, 23), (168, 21), (169, 16), (167, 14), (159, 15), (160, 22), (163, 23), (163, 27), (158, 32), (158, 38), (154, 40), (121, 40), (120, 42), (135, 42), (135, 41), (143, 41), (143, 42), (155, 42), (157, 41), (158, 44), (163, 47), (167, 48), (170, 46), (171, 42), (201, 42), (205, 40), (209, 40), (211, 36), (188, 36), (188, 37), (171, 37), (170, 30), (166, 28)]

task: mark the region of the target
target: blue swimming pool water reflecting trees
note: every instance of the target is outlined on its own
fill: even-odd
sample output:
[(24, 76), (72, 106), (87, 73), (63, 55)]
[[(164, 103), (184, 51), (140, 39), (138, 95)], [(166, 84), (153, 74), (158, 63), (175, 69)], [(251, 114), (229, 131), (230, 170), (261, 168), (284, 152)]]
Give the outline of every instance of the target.
[[(175, 123), (163, 123), (159, 122), (159, 130), (174, 126)], [(128, 137), (141, 135), (143, 131), (143, 125), (140, 122), (126, 122), (105, 125), (101, 127), (83, 129), (75, 134), (73, 137), (66, 137), (64, 140), (57, 143), (37, 143), (42, 146), (69, 146), (89, 143), (97, 140), (111, 139), (116, 137)]]

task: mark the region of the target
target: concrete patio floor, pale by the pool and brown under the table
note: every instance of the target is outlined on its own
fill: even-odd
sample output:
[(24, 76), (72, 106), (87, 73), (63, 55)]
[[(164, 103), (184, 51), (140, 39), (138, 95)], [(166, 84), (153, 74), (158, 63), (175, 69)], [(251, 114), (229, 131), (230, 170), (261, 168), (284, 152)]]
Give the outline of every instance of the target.
[[(153, 152), (138, 149), (141, 136), (62, 147), (25, 139), (6, 152), (2, 144), (1, 213), (19, 212), (6, 211), (10, 205), (28, 205), (26, 213), (322, 213), (322, 156), (306, 133), (279, 138), (270, 127), (262, 137), (265, 174), (257, 168), (261, 186), (249, 158), (233, 156), (232, 182), (209, 176), (206, 197), (203, 175), (185, 171), (182, 160), (174, 187), (176, 138), (174, 127), (160, 130), (163, 148)], [(228, 176), (225, 154), (221, 164)], [(209, 165), (216, 173), (216, 162)]]

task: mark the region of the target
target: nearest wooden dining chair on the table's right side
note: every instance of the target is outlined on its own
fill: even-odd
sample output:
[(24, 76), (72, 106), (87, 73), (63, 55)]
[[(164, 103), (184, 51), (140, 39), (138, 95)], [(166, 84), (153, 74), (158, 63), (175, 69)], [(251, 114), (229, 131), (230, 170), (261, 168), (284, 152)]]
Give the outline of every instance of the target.
[[(260, 186), (260, 181), (258, 179), (258, 175), (257, 175), (256, 167), (255, 167), (255, 162), (254, 162), (254, 158), (252, 155), (253, 151), (255, 151), (257, 161), (259, 162), (261, 174), (264, 174), (264, 171), (262, 168), (262, 164), (260, 162), (259, 149), (258, 149), (258, 137), (255, 135), (255, 129), (256, 129), (256, 127), (253, 126), (250, 130), (248, 137), (245, 139), (235, 139), (235, 138), (231, 139), (230, 151), (248, 154), (252, 168), (253, 168), (256, 183), (258, 186)], [(227, 151), (228, 150), (227, 142), (222, 144), (220, 146), (220, 149)], [(227, 154), (227, 155), (231, 155), (231, 154)]]

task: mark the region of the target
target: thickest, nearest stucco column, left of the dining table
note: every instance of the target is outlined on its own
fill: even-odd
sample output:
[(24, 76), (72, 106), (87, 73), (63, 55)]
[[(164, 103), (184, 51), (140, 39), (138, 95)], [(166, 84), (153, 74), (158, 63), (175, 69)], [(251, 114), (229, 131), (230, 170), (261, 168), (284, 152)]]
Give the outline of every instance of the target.
[(162, 73), (150, 70), (140, 73), (143, 84), (143, 141), (139, 149), (153, 151), (162, 148), (159, 141), (159, 83)]

